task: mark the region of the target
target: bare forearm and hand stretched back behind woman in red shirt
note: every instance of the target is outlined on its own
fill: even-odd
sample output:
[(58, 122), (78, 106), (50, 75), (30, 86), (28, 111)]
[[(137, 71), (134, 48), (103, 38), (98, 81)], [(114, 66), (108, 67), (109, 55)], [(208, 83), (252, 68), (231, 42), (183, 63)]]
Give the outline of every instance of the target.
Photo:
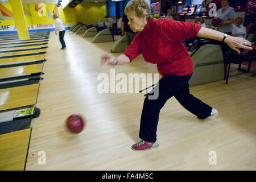
[[(197, 33), (197, 36), (222, 41), (222, 39), (224, 38), (224, 33), (216, 30), (212, 30), (210, 28), (201, 27), (201, 29)], [(234, 49), (238, 53), (240, 53), (239, 48), (244, 48), (249, 50), (253, 49), (251, 47), (251, 43), (248, 40), (245, 40), (243, 38), (237, 38), (237, 37), (228, 35), (224, 40), (224, 42), (228, 44), (230, 48)]]

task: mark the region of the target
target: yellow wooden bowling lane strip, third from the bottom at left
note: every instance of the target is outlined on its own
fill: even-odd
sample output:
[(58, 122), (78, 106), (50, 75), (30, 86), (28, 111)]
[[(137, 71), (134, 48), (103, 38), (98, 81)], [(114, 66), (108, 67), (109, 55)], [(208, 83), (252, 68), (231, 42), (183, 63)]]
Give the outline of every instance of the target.
[(42, 72), (43, 64), (31, 64), (19, 67), (0, 68), (0, 78), (24, 76)]

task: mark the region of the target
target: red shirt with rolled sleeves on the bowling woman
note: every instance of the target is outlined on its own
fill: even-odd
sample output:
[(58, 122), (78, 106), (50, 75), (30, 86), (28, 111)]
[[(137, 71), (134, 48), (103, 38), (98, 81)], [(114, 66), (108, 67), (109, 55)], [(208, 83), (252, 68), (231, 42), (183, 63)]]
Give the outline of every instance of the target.
[(157, 64), (160, 75), (189, 75), (192, 59), (181, 40), (195, 38), (201, 26), (172, 19), (150, 19), (124, 54), (132, 61), (140, 53), (148, 63)]

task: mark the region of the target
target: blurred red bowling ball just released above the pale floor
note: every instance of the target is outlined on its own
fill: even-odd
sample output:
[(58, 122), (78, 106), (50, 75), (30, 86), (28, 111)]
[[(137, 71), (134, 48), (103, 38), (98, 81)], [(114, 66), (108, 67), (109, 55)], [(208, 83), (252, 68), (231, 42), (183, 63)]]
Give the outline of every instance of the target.
[(67, 126), (72, 133), (80, 133), (84, 129), (84, 120), (80, 115), (72, 114), (67, 119)]

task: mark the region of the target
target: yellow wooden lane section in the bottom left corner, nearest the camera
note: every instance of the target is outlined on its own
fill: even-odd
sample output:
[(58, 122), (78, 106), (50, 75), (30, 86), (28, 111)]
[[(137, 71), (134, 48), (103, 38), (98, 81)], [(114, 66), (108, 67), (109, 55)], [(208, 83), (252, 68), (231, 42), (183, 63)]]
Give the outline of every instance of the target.
[(23, 171), (30, 142), (30, 129), (0, 135), (0, 171)]

